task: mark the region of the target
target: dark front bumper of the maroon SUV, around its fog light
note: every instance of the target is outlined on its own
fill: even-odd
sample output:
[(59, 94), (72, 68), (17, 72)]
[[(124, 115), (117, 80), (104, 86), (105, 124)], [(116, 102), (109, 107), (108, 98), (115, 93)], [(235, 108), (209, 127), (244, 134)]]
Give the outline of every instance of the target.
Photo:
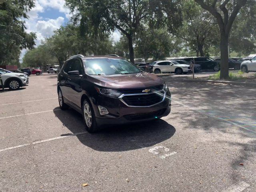
[[(98, 102), (93, 104), (96, 123), (98, 126), (131, 124), (162, 118), (167, 116), (170, 111), (170, 92), (166, 92), (165, 99), (150, 107), (131, 107), (127, 106), (119, 98), (110, 98), (100, 95)], [(107, 108), (109, 114), (101, 116), (98, 106)]]

